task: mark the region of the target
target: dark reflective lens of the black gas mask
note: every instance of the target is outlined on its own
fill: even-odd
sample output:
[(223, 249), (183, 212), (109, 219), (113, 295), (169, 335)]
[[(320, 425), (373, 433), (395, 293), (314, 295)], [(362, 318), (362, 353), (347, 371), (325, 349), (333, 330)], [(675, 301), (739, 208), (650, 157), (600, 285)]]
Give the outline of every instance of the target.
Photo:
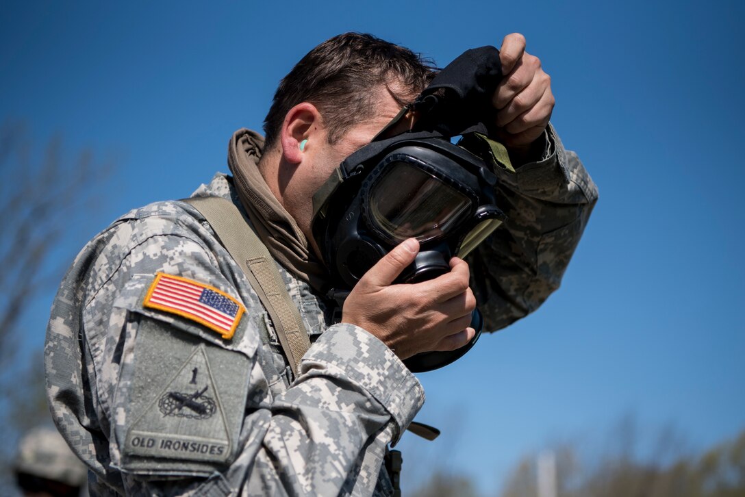
[(367, 194), (369, 221), (396, 242), (442, 238), (469, 214), (472, 200), (410, 160), (392, 160), (373, 180)]

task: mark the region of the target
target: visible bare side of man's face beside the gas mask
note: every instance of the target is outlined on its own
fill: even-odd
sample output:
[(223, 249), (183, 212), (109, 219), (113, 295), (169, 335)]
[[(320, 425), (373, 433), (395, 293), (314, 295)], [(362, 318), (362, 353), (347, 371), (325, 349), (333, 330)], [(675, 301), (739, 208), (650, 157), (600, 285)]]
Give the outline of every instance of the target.
[(294, 172), (285, 191), (285, 209), (297, 221), (316, 253), (318, 249), (311, 236), (313, 217), (313, 194), (329, 179), (332, 172), (346, 157), (370, 143), (383, 127), (396, 117), (401, 107), (393, 100), (387, 89), (378, 92), (378, 106), (375, 114), (350, 128), (335, 143), (329, 144), (323, 126), (320, 126), (321, 139), (308, 142), (303, 164)]

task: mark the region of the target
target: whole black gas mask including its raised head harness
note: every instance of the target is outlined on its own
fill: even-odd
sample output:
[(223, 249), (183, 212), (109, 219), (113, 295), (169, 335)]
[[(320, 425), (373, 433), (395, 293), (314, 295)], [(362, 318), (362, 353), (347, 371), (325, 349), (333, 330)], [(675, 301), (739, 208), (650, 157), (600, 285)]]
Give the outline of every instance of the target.
[[(343, 302), (364, 273), (407, 238), (419, 241), (419, 254), (395, 283), (448, 273), (452, 256), (468, 255), (504, 221), (494, 188), (498, 145), (485, 138), (481, 124), (500, 77), (495, 48), (466, 51), (314, 194), (311, 229), (337, 301)], [(390, 136), (412, 117), (413, 126)], [(453, 144), (453, 136), (462, 138)], [(509, 166), (501, 151), (496, 162)], [(424, 352), (404, 363), (414, 373), (450, 364), (478, 340), (483, 327), (478, 309), (471, 326), (476, 335), (466, 346)]]

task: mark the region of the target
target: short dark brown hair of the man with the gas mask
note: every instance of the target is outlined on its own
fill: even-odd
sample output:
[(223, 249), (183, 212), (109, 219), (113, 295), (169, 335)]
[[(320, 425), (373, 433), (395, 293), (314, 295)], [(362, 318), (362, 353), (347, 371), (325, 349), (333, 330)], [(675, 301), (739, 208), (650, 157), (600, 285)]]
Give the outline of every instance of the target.
[(378, 88), (385, 86), (403, 107), (434, 76), (421, 54), (370, 34), (346, 33), (309, 51), (279, 83), (264, 119), (267, 149), (275, 145), (285, 115), (300, 102), (319, 110), (329, 142), (375, 113)]

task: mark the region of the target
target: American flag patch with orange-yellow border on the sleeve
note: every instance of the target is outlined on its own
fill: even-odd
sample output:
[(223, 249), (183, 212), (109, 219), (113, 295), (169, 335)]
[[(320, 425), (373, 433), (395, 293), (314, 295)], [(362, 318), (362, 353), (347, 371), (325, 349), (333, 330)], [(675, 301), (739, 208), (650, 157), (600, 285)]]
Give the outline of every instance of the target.
[(197, 321), (223, 338), (232, 338), (246, 311), (238, 300), (215, 287), (165, 273), (157, 273), (142, 305)]

